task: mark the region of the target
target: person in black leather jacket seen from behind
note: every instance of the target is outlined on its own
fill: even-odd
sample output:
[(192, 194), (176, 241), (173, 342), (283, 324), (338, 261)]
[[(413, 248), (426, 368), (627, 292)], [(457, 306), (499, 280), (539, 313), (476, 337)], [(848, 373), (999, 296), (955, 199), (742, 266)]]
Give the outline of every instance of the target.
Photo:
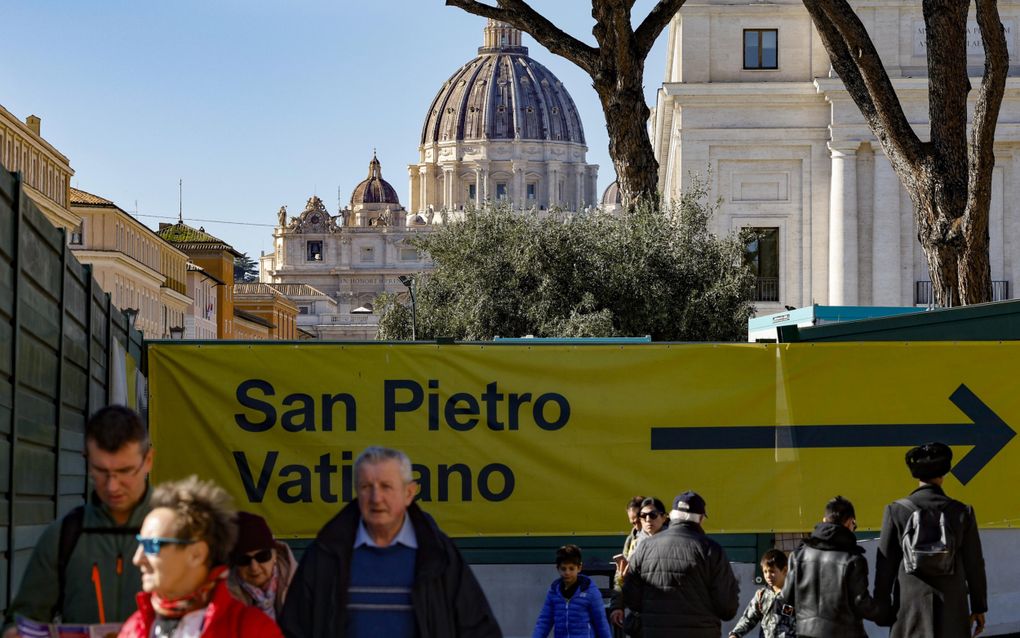
[(868, 593), (868, 563), (857, 545), (854, 504), (836, 496), (789, 562), (782, 597), (797, 609), (801, 638), (865, 638), (864, 620), (888, 609)]

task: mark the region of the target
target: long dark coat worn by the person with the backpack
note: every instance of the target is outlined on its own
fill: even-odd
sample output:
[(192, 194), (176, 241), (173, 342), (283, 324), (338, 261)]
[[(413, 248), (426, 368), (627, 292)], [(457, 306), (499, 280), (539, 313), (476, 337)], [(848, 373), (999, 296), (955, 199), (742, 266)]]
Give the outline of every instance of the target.
[(875, 566), (875, 597), (890, 601), (896, 614), (889, 638), (970, 636), (970, 615), (988, 609), (984, 558), (974, 509), (950, 498), (935, 485), (919, 487), (909, 498), (921, 508), (941, 508), (949, 514), (947, 519), (957, 543), (956, 568), (952, 576), (928, 580), (904, 572), (900, 539), (911, 511), (898, 503), (885, 506)]

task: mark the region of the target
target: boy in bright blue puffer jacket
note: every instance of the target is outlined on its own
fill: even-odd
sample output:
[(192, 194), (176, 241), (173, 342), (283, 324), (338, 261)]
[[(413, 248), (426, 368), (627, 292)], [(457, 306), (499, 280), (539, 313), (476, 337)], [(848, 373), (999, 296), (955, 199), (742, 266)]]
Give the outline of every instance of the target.
[(554, 638), (612, 638), (602, 592), (580, 573), (580, 548), (557, 549), (556, 569), (560, 578), (549, 587), (531, 638), (546, 638), (551, 629)]

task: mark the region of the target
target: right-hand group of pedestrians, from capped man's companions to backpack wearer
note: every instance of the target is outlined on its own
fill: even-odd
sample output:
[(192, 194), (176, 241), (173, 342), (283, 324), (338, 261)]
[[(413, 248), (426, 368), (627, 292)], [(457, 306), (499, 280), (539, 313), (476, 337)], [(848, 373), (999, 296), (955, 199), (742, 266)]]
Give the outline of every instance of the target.
[[(762, 557), (766, 586), (755, 592), (729, 632), (743, 638), (864, 638), (864, 621), (889, 627), (891, 638), (969, 638), (984, 630), (987, 584), (974, 510), (947, 496), (942, 479), (953, 451), (942, 443), (912, 448), (907, 468), (918, 487), (882, 518), (874, 588), (858, 544), (854, 504), (836, 496), (792, 555)], [(632, 499), (634, 526), (617, 554), (621, 594), (610, 618), (627, 636), (715, 638), (737, 611), (738, 587), (725, 552), (705, 535), (705, 499), (684, 492), (668, 525), (639, 530), (632, 516), (656, 518), (654, 499)], [(624, 616), (624, 612), (626, 616)], [(566, 635), (566, 634), (564, 634)]]

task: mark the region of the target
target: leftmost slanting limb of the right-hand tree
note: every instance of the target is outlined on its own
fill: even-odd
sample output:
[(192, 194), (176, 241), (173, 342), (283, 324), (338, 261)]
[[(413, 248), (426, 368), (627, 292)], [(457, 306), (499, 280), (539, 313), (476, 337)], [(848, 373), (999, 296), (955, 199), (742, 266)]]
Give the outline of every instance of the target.
[(889, 160), (917, 167), (923, 145), (907, 120), (881, 58), (847, 0), (804, 0), (832, 66), (861, 109)]

